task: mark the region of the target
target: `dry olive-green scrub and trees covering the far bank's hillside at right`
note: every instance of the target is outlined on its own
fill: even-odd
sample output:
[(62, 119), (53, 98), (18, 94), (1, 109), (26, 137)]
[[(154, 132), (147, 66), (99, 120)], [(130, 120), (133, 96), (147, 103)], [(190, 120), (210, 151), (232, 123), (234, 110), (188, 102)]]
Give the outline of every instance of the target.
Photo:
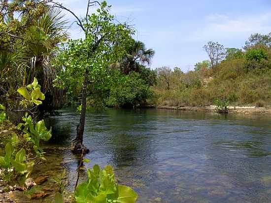
[(158, 103), (171, 106), (212, 105), (217, 99), (231, 105), (268, 106), (271, 100), (271, 34), (252, 34), (243, 49), (208, 42), (209, 60), (194, 71), (158, 68), (154, 88)]

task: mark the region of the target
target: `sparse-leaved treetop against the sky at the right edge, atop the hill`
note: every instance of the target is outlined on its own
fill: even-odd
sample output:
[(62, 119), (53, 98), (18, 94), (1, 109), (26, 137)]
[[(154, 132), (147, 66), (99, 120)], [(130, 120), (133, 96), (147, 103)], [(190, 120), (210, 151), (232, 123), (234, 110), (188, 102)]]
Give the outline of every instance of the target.
[(264, 45), (266, 47), (271, 47), (271, 33), (269, 34), (251, 34), (248, 41), (245, 42), (245, 49), (255, 45)]

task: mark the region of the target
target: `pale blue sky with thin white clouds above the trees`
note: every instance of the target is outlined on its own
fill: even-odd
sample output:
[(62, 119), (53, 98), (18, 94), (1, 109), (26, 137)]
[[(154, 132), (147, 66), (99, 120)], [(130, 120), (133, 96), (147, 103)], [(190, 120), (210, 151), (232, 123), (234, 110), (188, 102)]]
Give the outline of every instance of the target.
[[(87, 0), (59, 0), (85, 16)], [(208, 59), (203, 45), (217, 41), (242, 48), (250, 34), (271, 33), (271, 0), (107, 0), (119, 22), (136, 29), (135, 39), (155, 50), (151, 68), (193, 70)], [(92, 8), (94, 10), (95, 8)], [(74, 19), (67, 13), (66, 18)], [(83, 33), (73, 24), (70, 35)]]

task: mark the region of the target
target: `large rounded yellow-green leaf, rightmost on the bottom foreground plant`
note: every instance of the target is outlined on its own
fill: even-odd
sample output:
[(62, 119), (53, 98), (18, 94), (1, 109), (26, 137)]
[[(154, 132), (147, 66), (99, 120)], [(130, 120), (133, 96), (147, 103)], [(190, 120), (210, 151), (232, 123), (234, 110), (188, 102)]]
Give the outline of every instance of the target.
[(135, 203), (137, 200), (136, 192), (125, 185), (118, 185), (117, 203)]

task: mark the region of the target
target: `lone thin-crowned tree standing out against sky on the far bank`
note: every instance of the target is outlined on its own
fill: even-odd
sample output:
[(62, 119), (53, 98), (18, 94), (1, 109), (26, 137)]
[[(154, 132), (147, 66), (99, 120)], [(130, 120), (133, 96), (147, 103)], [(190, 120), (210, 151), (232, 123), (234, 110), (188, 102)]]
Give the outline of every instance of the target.
[(203, 48), (208, 54), (212, 69), (216, 68), (217, 64), (219, 64), (225, 58), (224, 46), (218, 42), (209, 41), (203, 46)]

